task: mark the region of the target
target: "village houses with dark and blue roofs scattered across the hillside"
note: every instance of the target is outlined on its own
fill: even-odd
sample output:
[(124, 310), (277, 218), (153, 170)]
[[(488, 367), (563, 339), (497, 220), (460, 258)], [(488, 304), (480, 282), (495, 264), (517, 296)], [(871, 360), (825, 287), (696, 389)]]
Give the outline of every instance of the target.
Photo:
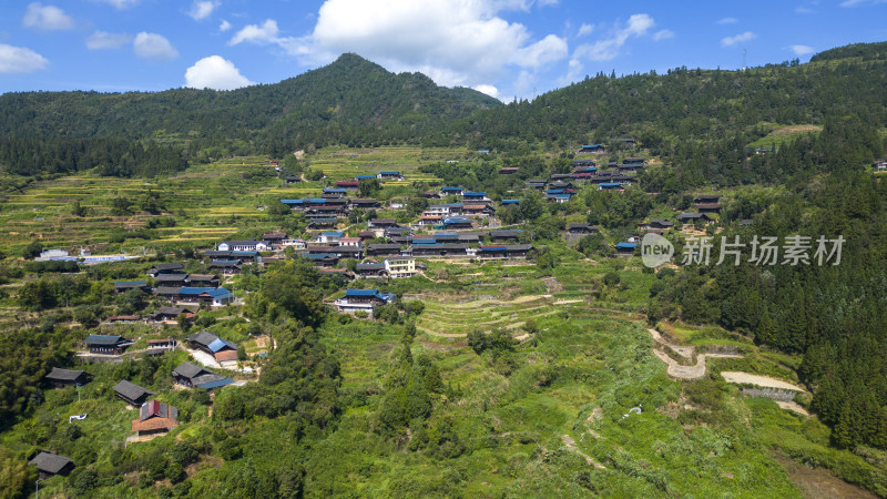
[[(603, 153), (601, 145), (585, 145), (580, 154), (598, 155)], [(276, 162), (272, 163), (276, 166)], [(579, 159), (573, 162), (573, 171), (568, 174), (553, 174), (549, 179), (529, 180), (526, 189), (539, 190), (549, 203), (564, 203), (577, 194), (581, 184), (597, 185), (599, 190), (624, 191), (632, 189), (636, 182), (634, 174), (644, 167), (645, 161), (629, 157), (622, 163), (609, 163), (606, 171), (599, 171), (591, 159)], [(279, 171), (279, 167), (277, 169)], [(517, 167), (502, 167), (501, 175), (517, 173)], [(112, 315), (105, 317), (105, 325), (133, 325), (147, 323), (162, 327), (190, 323), (201, 307), (214, 308), (238, 305), (242, 302), (225, 288), (225, 279), (239, 274), (245, 266), (263, 268), (271, 262), (285, 259), (288, 248), (318, 267), (322, 274), (338, 275), (346, 279), (356, 278), (406, 278), (420, 274), (425, 266), (416, 258), (475, 258), (511, 259), (527, 258), (534, 249), (520, 228), (498, 227), (497, 206), (519, 204), (518, 198), (491, 200), (485, 192), (475, 192), (461, 186), (441, 186), (426, 191), (429, 205), (415, 223), (398, 224), (394, 218), (371, 218), (365, 230), (357, 236), (348, 237), (344, 231), (341, 217), (355, 208), (376, 210), (383, 204), (375, 198), (358, 198), (356, 193), (361, 180), (376, 179), (380, 182), (404, 180), (398, 171), (383, 171), (376, 175), (357, 175), (355, 180), (335, 182), (335, 187), (324, 189), (318, 198), (284, 198), (281, 202), (292, 211), (302, 213), (308, 221), (308, 230), (314, 234), (310, 238), (290, 237), (285, 233), (264, 234), (261, 240), (224, 241), (215, 248), (203, 252), (201, 264), (205, 273), (186, 273), (183, 263), (155, 263), (146, 271), (146, 278), (139, 281), (114, 282), (118, 294), (140, 289), (165, 302), (153, 312), (140, 315)], [(284, 179), (286, 183), (300, 180), (295, 176)], [(457, 196), (461, 203), (432, 204), (435, 201)], [(699, 226), (715, 223), (720, 211), (720, 195), (700, 195), (695, 198), (696, 211), (682, 213), (677, 222)], [(401, 203), (392, 203), (390, 208), (402, 208)], [(714, 216), (712, 216), (714, 215)], [(643, 233), (662, 234), (673, 228), (675, 222), (665, 218), (651, 218), (641, 224), (639, 237)], [(565, 227), (564, 237), (578, 241), (589, 234), (599, 233), (599, 228), (587, 223), (570, 223)], [(615, 244), (619, 256), (631, 256), (636, 252), (638, 237)], [(81, 263), (96, 264), (114, 259), (114, 257), (91, 256)], [(40, 261), (77, 261), (67, 252), (48, 249), (37, 258)], [(351, 268), (345, 266), (355, 261)], [(150, 277), (150, 279), (147, 278)], [(329, 304), (341, 313), (371, 317), (374, 307), (391, 303), (397, 297), (376, 288), (350, 288), (344, 296)], [(145, 356), (163, 355), (174, 349), (186, 350), (194, 363), (184, 361), (170, 373), (180, 389), (203, 389), (212, 391), (216, 388), (235, 384), (234, 378), (218, 374), (216, 370), (228, 370), (243, 374), (239, 360), (246, 355), (238, 345), (220, 338), (208, 330), (201, 330), (187, 336), (186, 342), (175, 338), (154, 338), (147, 340), (147, 348), (132, 352), (135, 344), (120, 335), (91, 334), (84, 340), (84, 352), (80, 355), (92, 361), (114, 361), (121, 356), (141, 354)], [(137, 357), (135, 357), (137, 358)], [(83, 370), (53, 368), (45, 376), (45, 381), (54, 388), (80, 387), (90, 383), (90, 376)], [(131, 408), (137, 409), (137, 417), (132, 420), (132, 434), (128, 441), (144, 441), (162, 436), (179, 426), (176, 407), (154, 398), (154, 394), (128, 379), (121, 379), (114, 387), (114, 394)], [(82, 415), (86, 417), (86, 415)], [(67, 475), (74, 462), (64, 456), (41, 451), (30, 461), (38, 467), (41, 478), (53, 475)]]

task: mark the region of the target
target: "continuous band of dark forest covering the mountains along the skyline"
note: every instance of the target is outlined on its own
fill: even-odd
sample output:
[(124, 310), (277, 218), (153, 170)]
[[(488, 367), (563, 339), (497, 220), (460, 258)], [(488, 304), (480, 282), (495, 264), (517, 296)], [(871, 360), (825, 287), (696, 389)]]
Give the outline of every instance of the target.
[[(845, 114), (887, 123), (887, 60), (879, 57), (884, 47), (849, 45), (823, 52), (807, 64), (794, 61), (747, 71), (677, 68), (662, 75), (621, 78), (599, 73), (532, 102), (508, 105), (344, 54), (277, 84), (230, 92), (7, 93), (0, 95), (0, 135), (51, 142), (166, 140), (201, 161), (232, 153), (279, 156), (328, 144), (510, 150), (531, 142), (572, 149), (633, 136), (676, 163), (713, 147), (743, 147), (767, 133), (763, 123), (822, 125), (826, 116)], [(58, 153), (48, 163), (70, 162), (69, 145), (51, 142), (47, 145)], [(708, 157), (724, 161), (717, 154)], [(0, 162), (17, 172), (34, 167), (21, 155), (7, 154)], [(707, 179), (697, 176), (699, 182)]]

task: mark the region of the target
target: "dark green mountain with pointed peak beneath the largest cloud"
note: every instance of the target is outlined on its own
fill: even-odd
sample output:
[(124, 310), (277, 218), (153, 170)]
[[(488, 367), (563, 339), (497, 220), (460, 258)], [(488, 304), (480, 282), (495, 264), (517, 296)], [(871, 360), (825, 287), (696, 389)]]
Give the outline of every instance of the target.
[[(246, 141), (272, 154), (327, 143), (418, 141), (501, 103), (470, 89), (394, 74), (356, 54), (276, 84), (234, 91), (27, 92), (0, 95), (0, 136)], [(195, 147), (191, 147), (194, 150)]]

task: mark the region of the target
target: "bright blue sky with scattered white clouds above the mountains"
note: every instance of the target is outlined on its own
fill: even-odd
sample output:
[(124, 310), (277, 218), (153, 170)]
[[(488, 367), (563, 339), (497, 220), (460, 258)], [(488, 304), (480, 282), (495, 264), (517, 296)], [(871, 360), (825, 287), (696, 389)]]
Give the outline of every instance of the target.
[(356, 52), (504, 101), (598, 72), (802, 62), (887, 41), (887, 0), (7, 0), (0, 93), (230, 90)]

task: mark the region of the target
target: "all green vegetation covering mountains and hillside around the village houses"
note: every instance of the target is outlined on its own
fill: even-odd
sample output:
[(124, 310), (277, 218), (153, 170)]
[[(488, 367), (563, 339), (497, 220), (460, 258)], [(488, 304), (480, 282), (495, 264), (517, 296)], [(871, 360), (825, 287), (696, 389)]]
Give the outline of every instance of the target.
[[(599, 74), (504, 106), (353, 54), (233, 92), (0, 96), (2, 497), (30, 493), (26, 462), (41, 449), (75, 462), (69, 477), (40, 481), (49, 496), (799, 497), (801, 466), (887, 496), (887, 187), (868, 166), (887, 153), (881, 51), (744, 72)], [(70, 112), (47, 113), (61, 106)], [(59, 121), (48, 128), (44, 116)], [(577, 144), (594, 142), (608, 147), (593, 156), (601, 170), (646, 159), (634, 185), (577, 183), (565, 203), (524, 186), (570, 173), (588, 157)], [(166, 305), (113, 282), (156, 284), (145, 272), (165, 262), (207, 273), (201, 253), (223, 240), (312, 238), (281, 198), (387, 170), (404, 180), (363, 180), (351, 194), (381, 207), (343, 215), (338, 230), (415, 222), (438, 203), (426, 191), (452, 185), (486, 192), (496, 218), (485, 225), (517, 228), (533, 249), (419, 258), (414, 277), (354, 282), (292, 248), (264, 252), (222, 278), (242, 305), (100, 324)], [(679, 265), (615, 256), (639, 226), (675, 221), (705, 193), (723, 195), (714, 224), (665, 232)], [(598, 231), (567, 237), (571, 223)], [(690, 236), (798, 233), (843, 236), (842, 265), (680, 265)], [(130, 259), (33, 261), (81, 246)], [(373, 319), (338, 314), (328, 305), (346, 287), (397, 299)], [(241, 347), (236, 370), (217, 369), (236, 384), (174, 386), (188, 354), (141, 353), (149, 339), (203, 329)], [(134, 345), (120, 363), (90, 363), (89, 334)], [(705, 370), (676, 376), (669, 360)], [(52, 389), (52, 367), (92, 380)], [(725, 370), (808, 391), (779, 400), (786, 410)], [(177, 407), (180, 425), (134, 441), (136, 413), (112, 389), (121, 379)]]

